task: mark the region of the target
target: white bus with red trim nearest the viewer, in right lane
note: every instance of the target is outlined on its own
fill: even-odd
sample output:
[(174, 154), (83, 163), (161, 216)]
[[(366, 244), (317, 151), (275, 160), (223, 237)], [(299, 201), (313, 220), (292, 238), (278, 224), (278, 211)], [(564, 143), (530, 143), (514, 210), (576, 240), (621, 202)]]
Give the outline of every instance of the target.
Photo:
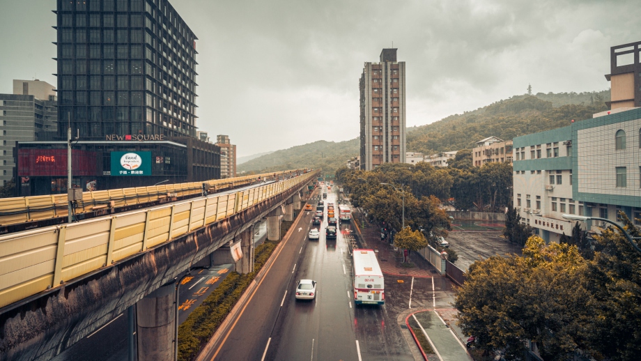
[(385, 305), (385, 282), (372, 249), (353, 249), (355, 305)]

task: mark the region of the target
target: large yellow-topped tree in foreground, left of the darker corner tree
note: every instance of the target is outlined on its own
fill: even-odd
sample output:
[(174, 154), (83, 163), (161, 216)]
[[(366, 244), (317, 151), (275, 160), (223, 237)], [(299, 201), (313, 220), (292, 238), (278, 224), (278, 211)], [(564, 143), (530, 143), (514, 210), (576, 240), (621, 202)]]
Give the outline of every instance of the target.
[(576, 247), (532, 236), (523, 257), (493, 256), (470, 266), (456, 295), (458, 324), (482, 349), (504, 349), (509, 360), (523, 357), (526, 339), (536, 341), (544, 360), (568, 360), (578, 348), (589, 349), (580, 334), (589, 316), (585, 268)]

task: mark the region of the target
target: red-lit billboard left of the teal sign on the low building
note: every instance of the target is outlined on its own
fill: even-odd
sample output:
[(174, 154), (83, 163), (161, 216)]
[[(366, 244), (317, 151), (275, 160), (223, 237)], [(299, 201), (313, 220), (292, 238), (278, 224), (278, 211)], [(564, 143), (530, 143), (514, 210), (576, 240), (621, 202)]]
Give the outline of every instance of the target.
[[(99, 176), (98, 153), (72, 150), (73, 176)], [(18, 150), (18, 176), (67, 176), (66, 149), (20, 149)]]

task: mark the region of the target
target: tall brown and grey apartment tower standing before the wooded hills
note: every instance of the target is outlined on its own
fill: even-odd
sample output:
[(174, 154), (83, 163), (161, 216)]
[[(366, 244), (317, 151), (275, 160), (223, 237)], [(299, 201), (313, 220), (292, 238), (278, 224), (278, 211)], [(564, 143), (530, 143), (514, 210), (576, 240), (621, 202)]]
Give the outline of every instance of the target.
[(405, 61), (383, 49), (379, 63), (365, 63), (360, 89), (360, 166), (405, 162)]

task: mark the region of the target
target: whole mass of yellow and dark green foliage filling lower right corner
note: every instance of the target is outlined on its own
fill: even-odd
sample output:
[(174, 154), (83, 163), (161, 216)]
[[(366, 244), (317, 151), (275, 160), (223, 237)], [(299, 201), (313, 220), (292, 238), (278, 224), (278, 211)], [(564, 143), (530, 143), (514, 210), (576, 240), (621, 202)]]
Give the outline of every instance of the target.
[[(619, 217), (631, 236), (641, 236)], [(463, 331), (510, 360), (523, 356), (525, 340), (536, 342), (544, 360), (638, 358), (641, 254), (614, 229), (594, 238), (593, 259), (576, 245), (531, 236), (523, 256), (472, 263), (455, 302)]]

